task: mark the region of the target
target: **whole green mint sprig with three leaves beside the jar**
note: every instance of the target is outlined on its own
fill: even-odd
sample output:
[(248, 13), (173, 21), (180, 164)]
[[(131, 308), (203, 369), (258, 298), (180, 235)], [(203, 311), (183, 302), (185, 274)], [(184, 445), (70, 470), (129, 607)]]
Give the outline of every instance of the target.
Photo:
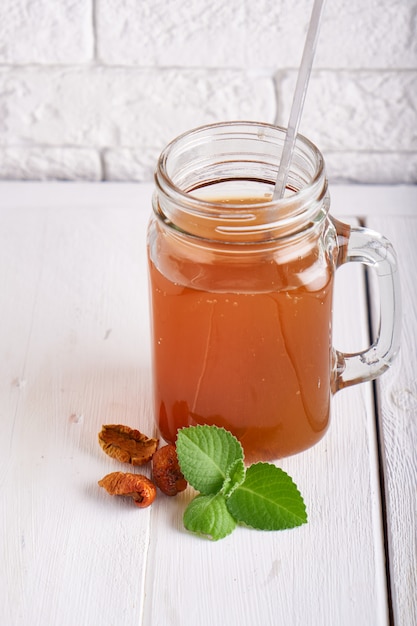
[(184, 513), (187, 530), (218, 540), (239, 523), (283, 530), (307, 522), (304, 500), (290, 476), (270, 463), (246, 468), (242, 446), (224, 428), (182, 428), (176, 447), (181, 472), (200, 492)]

